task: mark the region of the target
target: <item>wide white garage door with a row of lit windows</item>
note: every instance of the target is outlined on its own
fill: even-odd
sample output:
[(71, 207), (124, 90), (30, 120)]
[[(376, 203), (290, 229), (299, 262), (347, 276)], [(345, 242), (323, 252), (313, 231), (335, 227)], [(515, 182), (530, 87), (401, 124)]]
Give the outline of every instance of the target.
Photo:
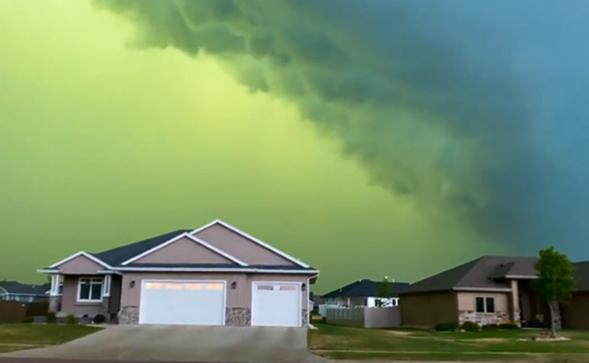
[(224, 281), (141, 283), (139, 324), (224, 325)]

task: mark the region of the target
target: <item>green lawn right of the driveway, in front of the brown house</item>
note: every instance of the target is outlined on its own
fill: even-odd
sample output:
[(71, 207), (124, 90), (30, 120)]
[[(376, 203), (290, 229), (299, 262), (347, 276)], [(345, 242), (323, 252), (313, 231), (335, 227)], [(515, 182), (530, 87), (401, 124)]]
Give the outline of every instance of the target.
[(316, 324), (309, 349), (332, 359), (442, 361), (589, 361), (589, 332), (561, 331), (570, 341), (518, 341), (538, 331), (429, 332)]

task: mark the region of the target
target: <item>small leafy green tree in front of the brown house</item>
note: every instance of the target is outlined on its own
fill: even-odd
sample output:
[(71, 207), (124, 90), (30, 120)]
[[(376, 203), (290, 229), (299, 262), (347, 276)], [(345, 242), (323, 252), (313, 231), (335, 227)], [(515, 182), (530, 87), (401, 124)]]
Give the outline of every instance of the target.
[(531, 287), (548, 304), (550, 308), (550, 335), (556, 336), (555, 311), (557, 304), (566, 305), (575, 291), (575, 267), (567, 255), (556, 251), (554, 247), (542, 249), (540, 259), (535, 264), (538, 278)]

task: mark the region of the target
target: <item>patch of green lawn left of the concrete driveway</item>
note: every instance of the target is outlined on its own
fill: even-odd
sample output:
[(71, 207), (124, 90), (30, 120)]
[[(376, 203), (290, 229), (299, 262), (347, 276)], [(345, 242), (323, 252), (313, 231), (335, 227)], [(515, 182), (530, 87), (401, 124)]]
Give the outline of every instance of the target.
[(100, 331), (86, 325), (0, 324), (0, 349), (14, 345), (55, 345)]

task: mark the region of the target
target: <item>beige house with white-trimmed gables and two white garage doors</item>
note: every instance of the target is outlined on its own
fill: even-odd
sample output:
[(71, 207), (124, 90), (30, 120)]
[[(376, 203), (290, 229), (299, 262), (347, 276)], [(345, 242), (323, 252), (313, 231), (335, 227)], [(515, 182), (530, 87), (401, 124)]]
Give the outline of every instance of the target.
[[(119, 324), (306, 327), (319, 271), (216, 220), (47, 268), (49, 308)], [(63, 282), (59, 297), (58, 286)]]

